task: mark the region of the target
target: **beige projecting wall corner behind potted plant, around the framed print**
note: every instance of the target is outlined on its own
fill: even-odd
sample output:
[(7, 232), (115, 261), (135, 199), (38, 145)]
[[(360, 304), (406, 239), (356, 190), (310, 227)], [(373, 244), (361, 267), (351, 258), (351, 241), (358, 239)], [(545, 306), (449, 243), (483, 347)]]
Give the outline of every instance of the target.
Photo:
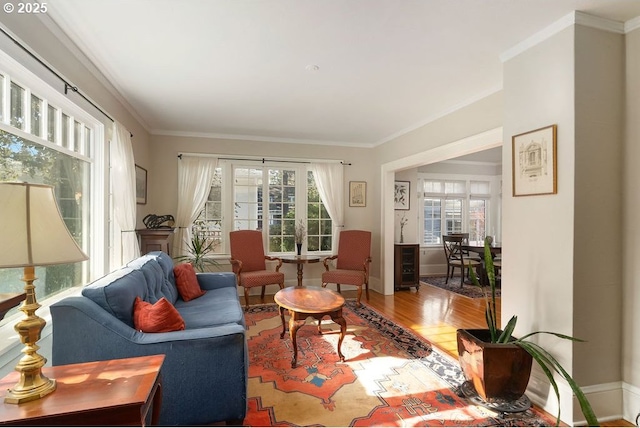
[[(623, 37), (572, 26), (504, 64), (505, 141), (558, 125), (558, 192), (503, 194), (502, 319), (518, 315), (516, 335), (551, 330), (587, 343), (540, 343), (586, 387), (599, 417), (619, 417)], [(503, 158), (512, 148), (505, 144)], [(504, 164), (504, 188), (512, 186)], [(611, 384), (614, 384), (612, 386)], [(563, 420), (583, 420), (561, 383)], [(539, 370), (529, 391), (545, 408)], [(546, 402), (546, 403), (545, 403)], [(578, 408), (579, 409), (579, 408)]]

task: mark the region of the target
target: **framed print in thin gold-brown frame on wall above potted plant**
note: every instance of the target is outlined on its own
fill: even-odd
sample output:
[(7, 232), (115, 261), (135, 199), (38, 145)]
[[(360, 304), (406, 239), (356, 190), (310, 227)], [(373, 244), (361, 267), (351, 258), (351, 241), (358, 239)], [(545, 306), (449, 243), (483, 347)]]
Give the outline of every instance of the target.
[(557, 125), (512, 137), (513, 196), (558, 193)]

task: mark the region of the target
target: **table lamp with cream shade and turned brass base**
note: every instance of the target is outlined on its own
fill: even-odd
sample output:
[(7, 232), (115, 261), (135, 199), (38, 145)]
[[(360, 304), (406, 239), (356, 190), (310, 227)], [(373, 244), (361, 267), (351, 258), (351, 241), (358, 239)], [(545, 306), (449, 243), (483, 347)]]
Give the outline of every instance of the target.
[(0, 183), (0, 268), (24, 268), (25, 300), (20, 310), (26, 317), (15, 325), (25, 354), (15, 369), (20, 380), (7, 391), (5, 403), (38, 400), (56, 389), (54, 379), (42, 374), (46, 358), (36, 342), (46, 322), (35, 314), (35, 266), (51, 266), (86, 260), (73, 239), (56, 204), (53, 187), (30, 183)]

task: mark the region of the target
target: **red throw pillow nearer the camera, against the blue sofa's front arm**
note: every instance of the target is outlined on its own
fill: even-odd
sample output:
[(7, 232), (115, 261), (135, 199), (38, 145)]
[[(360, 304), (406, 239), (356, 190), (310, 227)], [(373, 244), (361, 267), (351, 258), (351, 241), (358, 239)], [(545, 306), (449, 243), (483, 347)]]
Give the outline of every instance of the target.
[(184, 330), (185, 327), (178, 310), (164, 297), (153, 305), (136, 297), (133, 304), (133, 325), (136, 330), (145, 333)]

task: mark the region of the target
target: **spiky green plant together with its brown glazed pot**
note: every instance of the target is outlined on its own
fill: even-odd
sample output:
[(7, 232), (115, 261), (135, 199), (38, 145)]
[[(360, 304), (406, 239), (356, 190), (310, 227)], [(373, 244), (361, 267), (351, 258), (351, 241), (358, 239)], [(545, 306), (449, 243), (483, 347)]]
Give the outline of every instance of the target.
[[(582, 342), (575, 337), (549, 331), (535, 331), (517, 339), (511, 336), (517, 316), (512, 316), (504, 330), (498, 329), (496, 313), (496, 278), (491, 256), (490, 242), (484, 241), (486, 281), (482, 286), (473, 269), (470, 269), (473, 284), (480, 287), (485, 298), (487, 329), (457, 331), (458, 356), (465, 379), (471, 382), (482, 399), (515, 400), (520, 398), (529, 382), (532, 360), (535, 360), (549, 379), (555, 395), (560, 401), (560, 392), (554, 378), (559, 374), (567, 381), (580, 403), (580, 409), (589, 426), (598, 426), (598, 420), (578, 384), (562, 367), (558, 360), (539, 344), (529, 340), (539, 334), (550, 334), (560, 339)], [(560, 406), (556, 423), (560, 424)]]

